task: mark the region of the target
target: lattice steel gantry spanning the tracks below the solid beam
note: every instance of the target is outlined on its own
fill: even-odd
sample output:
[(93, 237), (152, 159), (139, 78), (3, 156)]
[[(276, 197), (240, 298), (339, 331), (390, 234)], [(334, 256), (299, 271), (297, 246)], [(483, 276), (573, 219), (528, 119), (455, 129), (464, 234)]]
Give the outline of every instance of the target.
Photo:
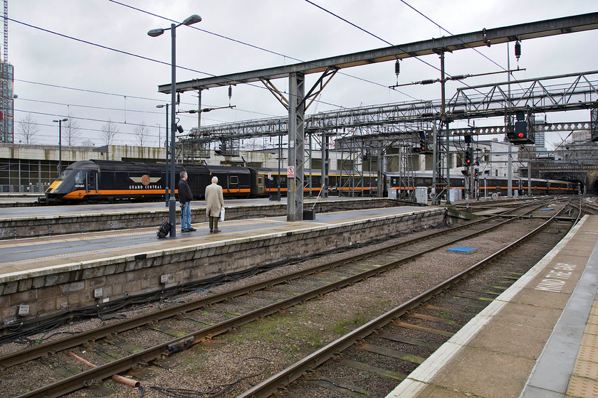
[[(555, 83), (555, 84), (551, 84)], [(507, 85), (511, 89), (510, 99)], [(595, 109), (598, 103), (598, 71), (570, 73), (535, 79), (513, 80), (491, 85), (463, 87), (457, 90), (446, 104), (449, 120), (481, 119), (504, 116), (505, 112), (530, 109), (532, 112), (562, 112)], [(429, 131), (434, 120), (440, 119), (441, 101), (401, 102), (318, 112), (305, 116), (305, 131), (342, 130), (362, 127), (364, 136), (412, 134)], [(550, 124), (536, 127), (536, 131), (589, 129), (589, 122), (578, 126), (571, 123)], [(243, 122), (212, 124), (192, 129), (189, 139), (199, 142), (219, 141), (221, 137), (244, 139), (253, 136), (278, 136), (287, 134), (288, 118), (276, 117)], [(505, 134), (504, 126), (451, 129), (452, 135)]]

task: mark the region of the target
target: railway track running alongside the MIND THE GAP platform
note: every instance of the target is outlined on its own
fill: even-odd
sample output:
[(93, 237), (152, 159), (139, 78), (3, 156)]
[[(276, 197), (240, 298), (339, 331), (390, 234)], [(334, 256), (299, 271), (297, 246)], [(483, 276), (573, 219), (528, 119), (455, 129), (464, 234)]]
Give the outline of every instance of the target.
[[(547, 239), (552, 238), (555, 244), (560, 240), (562, 235), (554, 232), (557, 215), (490, 257), (347, 333), (237, 398), (386, 396), (398, 384), (397, 380), (403, 380), (535, 264), (519, 261), (523, 254), (528, 256)], [(488, 266), (499, 257), (500, 267)], [(479, 275), (483, 267), (488, 269)], [(474, 273), (478, 276), (471, 277)]]

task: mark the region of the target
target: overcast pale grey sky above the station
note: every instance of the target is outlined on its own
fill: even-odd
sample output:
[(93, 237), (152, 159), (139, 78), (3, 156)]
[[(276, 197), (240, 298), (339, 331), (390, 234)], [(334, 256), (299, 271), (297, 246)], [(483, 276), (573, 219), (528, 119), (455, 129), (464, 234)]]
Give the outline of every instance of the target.
[[(595, 0), (405, 2), (452, 34), (598, 11)], [(405, 2), (313, 0), (395, 45), (450, 36)], [(135, 125), (144, 123), (152, 134), (152, 145), (157, 145), (159, 134), (164, 139), (165, 112), (155, 106), (170, 101), (169, 95), (157, 92), (157, 86), (170, 82), (171, 45), (168, 31), (157, 38), (147, 36), (147, 31), (167, 28), (169, 19), (182, 21), (192, 14), (199, 14), (203, 21), (193, 27), (177, 28), (177, 65), (188, 68), (177, 70), (178, 82), (288, 65), (297, 63), (296, 59), (308, 61), (387, 47), (387, 43), (305, 0), (9, 0), (9, 18), (14, 21), (9, 21), (8, 59), (14, 65), (14, 92), (19, 95), (14, 103), (15, 131), (17, 122), (31, 113), (41, 125), (36, 143), (56, 144), (58, 127), (52, 120), (70, 114), (77, 119), (84, 138), (96, 145), (102, 144), (100, 130), (108, 119), (120, 131), (115, 144), (135, 144)], [(526, 70), (517, 72), (515, 77), (597, 70), (597, 41), (598, 31), (523, 41), (519, 65)], [(506, 68), (505, 44), (478, 50)], [(516, 67), (512, 43), (510, 53), (511, 66)], [(436, 55), (421, 59), (439, 66)], [(471, 49), (446, 55), (446, 71), (451, 75), (498, 69)], [(389, 90), (387, 87), (397, 82), (392, 62), (342, 72), (345, 75), (337, 74), (332, 79), (319, 98), (320, 104), (308, 109), (308, 114), (440, 97), (439, 85), (400, 87), (401, 92)], [(438, 77), (434, 68), (409, 58), (402, 62), (399, 83)], [(311, 85), (316, 79), (316, 75), (308, 75), (306, 81)], [(477, 85), (503, 80), (505, 75), (490, 75), (472, 77), (466, 82)], [(274, 84), (280, 90), (288, 87), (285, 79)], [(447, 85), (447, 97), (453, 95), (458, 85)], [(196, 109), (196, 92), (184, 93), (181, 102), (180, 109)], [(202, 94), (202, 107), (228, 104), (226, 87)], [(286, 114), (278, 100), (259, 84), (233, 87), (231, 104), (236, 108), (204, 114), (202, 124)], [(587, 113), (548, 114), (547, 118), (550, 122), (582, 121), (589, 120)], [(196, 125), (196, 117), (182, 114), (181, 124), (188, 131)], [(498, 122), (481, 120), (478, 124)], [(561, 134), (562, 138), (566, 135)], [(558, 141), (560, 136), (547, 139)], [(15, 141), (19, 141), (17, 133)]]

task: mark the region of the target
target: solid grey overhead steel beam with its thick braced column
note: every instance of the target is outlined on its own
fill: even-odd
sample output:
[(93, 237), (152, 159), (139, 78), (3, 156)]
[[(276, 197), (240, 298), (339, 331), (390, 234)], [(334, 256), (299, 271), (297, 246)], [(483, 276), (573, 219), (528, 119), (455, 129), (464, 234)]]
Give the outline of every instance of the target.
[[(285, 102), (289, 104), (289, 141), (292, 140), (295, 141), (295, 143), (298, 143), (298, 141), (305, 141), (305, 101), (308, 99), (309, 95), (308, 97), (304, 97), (305, 91), (298, 92), (295, 91), (295, 89), (298, 87), (302, 87), (303, 89), (305, 75), (311, 73), (321, 73), (322, 77), (320, 77), (319, 80), (321, 91), (323, 89), (323, 78), (330, 75), (331, 71), (333, 71), (332, 75), (334, 75), (337, 70), (342, 68), (352, 68), (370, 63), (380, 63), (434, 53), (444, 54), (446, 51), (453, 52), (463, 48), (475, 48), (485, 45), (489, 46), (498, 43), (506, 43), (509, 41), (522, 41), (530, 38), (587, 31), (596, 28), (598, 28), (598, 13), (568, 16), (564, 18), (555, 18), (532, 23), (523, 23), (519, 25), (506, 26), (503, 28), (484, 28), (481, 31), (463, 33), (461, 35), (432, 38), (431, 40), (426, 41), (394, 45), (387, 48), (379, 48), (377, 50), (368, 50), (362, 51), (360, 53), (340, 55), (332, 58), (323, 58), (320, 60), (285, 65), (277, 68), (266, 68), (249, 72), (234, 73), (230, 75), (206, 77), (204, 79), (194, 79), (187, 82), (177, 82), (176, 84), (171, 82), (169, 85), (160, 85), (158, 87), (158, 91), (169, 93), (172, 90), (172, 85), (174, 85), (174, 90), (177, 92), (185, 92), (189, 90), (205, 90), (212, 87), (238, 85), (241, 83), (256, 81), (270, 82), (270, 80), (273, 79), (288, 77), (290, 81), (288, 101), (282, 100), (282, 98), (279, 98), (279, 100), (281, 100), (283, 104)], [(301, 82), (299, 82), (299, 79)], [(330, 78), (328, 78), (327, 81), (329, 80)], [(309, 92), (312, 93), (314, 90), (315, 88)], [(441, 105), (442, 109), (444, 110), (444, 100)], [(446, 114), (441, 112), (441, 121), (444, 123), (448, 131), (448, 123), (445, 117)], [(300, 127), (299, 131), (297, 130), (298, 127)], [(301, 146), (301, 148), (303, 148), (303, 146)], [(297, 150), (296, 147), (295, 150)], [(446, 154), (444, 155), (446, 156)], [(293, 158), (289, 157), (289, 167), (293, 167), (295, 171), (299, 171), (299, 169), (303, 170), (303, 157), (303, 152), (296, 154), (296, 156)], [(295, 162), (295, 164), (293, 164), (293, 162)], [(296, 162), (300, 162), (301, 165), (298, 166)], [(295, 183), (297, 183), (295, 186), (295, 191), (288, 191), (287, 218), (288, 220), (303, 220), (303, 175), (295, 178)], [(295, 199), (295, 195), (300, 195), (301, 199)], [(292, 204), (292, 202), (294, 204)], [(297, 206), (300, 208), (295, 208)]]

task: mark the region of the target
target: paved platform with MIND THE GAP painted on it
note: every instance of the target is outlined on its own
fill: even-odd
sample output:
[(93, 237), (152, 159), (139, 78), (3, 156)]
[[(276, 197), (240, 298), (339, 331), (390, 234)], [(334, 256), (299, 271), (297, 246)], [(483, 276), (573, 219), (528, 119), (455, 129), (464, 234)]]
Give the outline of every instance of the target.
[(597, 289), (591, 215), (387, 398), (598, 397)]

